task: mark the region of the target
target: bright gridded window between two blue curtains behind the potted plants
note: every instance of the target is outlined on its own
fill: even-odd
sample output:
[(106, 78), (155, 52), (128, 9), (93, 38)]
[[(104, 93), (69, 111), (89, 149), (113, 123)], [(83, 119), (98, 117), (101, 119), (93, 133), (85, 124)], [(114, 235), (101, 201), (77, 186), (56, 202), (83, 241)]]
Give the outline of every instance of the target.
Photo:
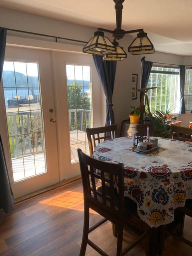
[(150, 111), (170, 110), (179, 113), (180, 110), (180, 76), (179, 68), (153, 66), (147, 87), (157, 87), (148, 90)]

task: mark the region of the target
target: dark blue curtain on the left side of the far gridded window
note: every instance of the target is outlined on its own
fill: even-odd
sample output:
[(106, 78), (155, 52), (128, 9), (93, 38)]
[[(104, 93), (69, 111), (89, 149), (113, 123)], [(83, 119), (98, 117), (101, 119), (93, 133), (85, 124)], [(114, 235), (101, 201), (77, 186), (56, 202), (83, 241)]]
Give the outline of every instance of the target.
[[(146, 61), (145, 57), (141, 59), (141, 89), (146, 88), (149, 80), (149, 75), (153, 66), (153, 62)], [(140, 101), (144, 92), (140, 93)]]

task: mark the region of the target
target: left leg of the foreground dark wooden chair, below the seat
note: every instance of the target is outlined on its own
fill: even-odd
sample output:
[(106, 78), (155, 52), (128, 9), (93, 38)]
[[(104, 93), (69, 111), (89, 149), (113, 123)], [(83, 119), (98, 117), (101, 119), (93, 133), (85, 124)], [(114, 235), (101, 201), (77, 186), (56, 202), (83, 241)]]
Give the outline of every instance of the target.
[(83, 236), (79, 256), (84, 256), (87, 247), (87, 240), (89, 234), (89, 208), (84, 206), (84, 224), (83, 224)]

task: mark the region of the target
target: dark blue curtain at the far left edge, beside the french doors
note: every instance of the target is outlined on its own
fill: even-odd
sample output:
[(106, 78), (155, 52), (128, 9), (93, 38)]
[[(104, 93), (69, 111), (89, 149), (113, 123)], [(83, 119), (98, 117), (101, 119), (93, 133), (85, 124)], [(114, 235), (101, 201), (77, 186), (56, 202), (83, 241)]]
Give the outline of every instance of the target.
[[(0, 27), (0, 80), (2, 77), (5, 56), (6, 34), (6, 28)], [(5, 213), (8, 213), (13, 209), (13, 203), (14, 197), (10, 186), (4, 149), (0, 136), (0, 209), (3, 209)]]

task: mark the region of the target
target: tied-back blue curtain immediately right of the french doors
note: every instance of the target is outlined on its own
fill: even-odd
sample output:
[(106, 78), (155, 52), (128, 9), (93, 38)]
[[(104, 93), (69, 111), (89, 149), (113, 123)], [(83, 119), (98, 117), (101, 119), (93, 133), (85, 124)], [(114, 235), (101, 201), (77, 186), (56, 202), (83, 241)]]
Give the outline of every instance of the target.
[(102, 83), (103, 91), (106, 98), (107, 114), (105, 125), (112, 125), (115, 123), (112, 95), (115, 82), (116, 61), (103, 61), (102, 56), (93, 55), (96, 70), (98, 72), (100, 81)]

